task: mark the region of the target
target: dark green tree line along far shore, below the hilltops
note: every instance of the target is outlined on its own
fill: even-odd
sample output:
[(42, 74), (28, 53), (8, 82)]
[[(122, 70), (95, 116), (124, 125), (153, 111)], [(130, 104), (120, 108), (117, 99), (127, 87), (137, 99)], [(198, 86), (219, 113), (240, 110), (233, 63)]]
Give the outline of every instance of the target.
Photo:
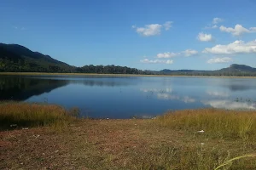
[[(38, 61), (40, 62), (40, 61)], [(119, 65), (49, 65), (44, 61), (30, 62), (28, 59), (0, 58), (0, 72), (56, 72), (56, 73), (96, 73), (96, 74), (135, 74), (135, 75), (176, 75), (176, 76), (227, 76), (256, 77), (256, 71), (142, 71)]]

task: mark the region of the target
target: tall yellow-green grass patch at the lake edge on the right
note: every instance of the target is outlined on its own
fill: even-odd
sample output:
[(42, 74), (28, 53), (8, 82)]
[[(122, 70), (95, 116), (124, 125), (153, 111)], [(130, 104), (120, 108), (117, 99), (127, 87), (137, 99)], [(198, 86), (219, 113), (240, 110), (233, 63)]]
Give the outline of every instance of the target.
[(204, 130), (212, 138), (255, 139), (256, 111), (185, 110), (160, 116), (161, 125), (189, 132)]

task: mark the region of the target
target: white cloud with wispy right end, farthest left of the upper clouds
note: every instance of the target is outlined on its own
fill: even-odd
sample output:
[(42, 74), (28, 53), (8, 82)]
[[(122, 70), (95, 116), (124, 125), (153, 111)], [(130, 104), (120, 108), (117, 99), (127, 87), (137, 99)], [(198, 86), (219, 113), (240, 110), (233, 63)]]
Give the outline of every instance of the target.
[(164, 23), (163, 25), (150, 24), (144, 27), (131, 26), (131, 28), (135, 29), (138, 34), (144, 37), (150, 37), (160, 35), (162, 27), (164, 27), (166, 31), (170, 30), (170, 28), (172, 27), (172, 23), (172, 21), (166, 21), (166, 23)]

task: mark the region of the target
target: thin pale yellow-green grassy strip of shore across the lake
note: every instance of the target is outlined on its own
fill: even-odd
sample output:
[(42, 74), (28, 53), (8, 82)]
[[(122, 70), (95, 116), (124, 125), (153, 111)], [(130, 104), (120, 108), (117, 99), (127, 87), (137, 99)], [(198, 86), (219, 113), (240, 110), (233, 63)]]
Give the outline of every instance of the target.
[(97, 73), (49, 73), (49, 72), (0, 72), (7, 76), (86, 76), (86, 77), (218, 77), (218, 78), (256, 78), (228, 76), (186, 76), (186, 75), (136, 75), (136, 74), (97, 74)]

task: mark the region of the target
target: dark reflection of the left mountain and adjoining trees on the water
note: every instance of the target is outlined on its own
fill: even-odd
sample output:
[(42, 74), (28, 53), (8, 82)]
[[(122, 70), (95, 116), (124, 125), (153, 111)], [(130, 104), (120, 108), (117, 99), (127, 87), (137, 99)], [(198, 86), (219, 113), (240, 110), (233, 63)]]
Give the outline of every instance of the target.
[(32, 96), (49, 93), (55, 88), (68, 84), (83, 84), (84, 86), (116, 87), (128, 86), (129, 81), (115, 81), (109, 78), (84, 78), (76, 79), (67, 77), (0, 77), (0, 100), (26, 100)]

